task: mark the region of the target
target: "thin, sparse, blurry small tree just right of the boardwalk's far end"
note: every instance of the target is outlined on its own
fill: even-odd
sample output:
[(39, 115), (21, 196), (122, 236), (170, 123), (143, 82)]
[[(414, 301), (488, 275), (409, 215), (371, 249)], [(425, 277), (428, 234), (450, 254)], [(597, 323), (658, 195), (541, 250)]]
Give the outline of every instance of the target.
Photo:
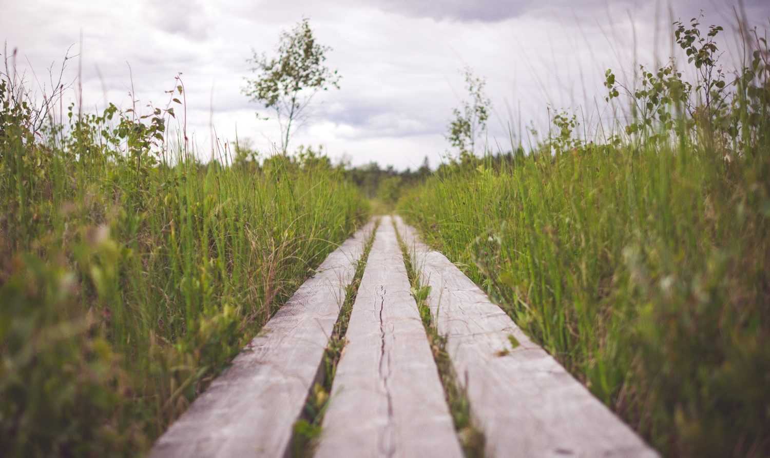
[(469, 99), (459, 109), (452, 110), (454, 119), (449, 123), (447, 139), (452, 146), (460, 149), (460, 156), (476, 152), (476, 139), (487, 132), (487, 119), (491, 101), (484, 93), (484, 79), (474, 76), (470, 67), (463, 71)]

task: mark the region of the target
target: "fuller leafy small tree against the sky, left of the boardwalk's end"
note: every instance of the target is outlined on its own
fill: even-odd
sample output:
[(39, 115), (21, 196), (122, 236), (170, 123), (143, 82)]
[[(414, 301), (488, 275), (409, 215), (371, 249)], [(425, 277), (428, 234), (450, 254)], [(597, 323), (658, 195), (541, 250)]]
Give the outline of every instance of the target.
[(281, 129), (283, 154), (289, 146), (292, 129), (306, 119), (306, 108), (313, 96), (330, 88), (340, 89), (340, 75), (330, 70), (326, 62), (329, 46), (316, 42), (307, 18), (298, 22), (291, 32), (281, 32), (278, 55), (253, 56), (247, 62), (256, 73), (255, 79), (246, 79), (243, 93), (266, 109), (274, 109)]

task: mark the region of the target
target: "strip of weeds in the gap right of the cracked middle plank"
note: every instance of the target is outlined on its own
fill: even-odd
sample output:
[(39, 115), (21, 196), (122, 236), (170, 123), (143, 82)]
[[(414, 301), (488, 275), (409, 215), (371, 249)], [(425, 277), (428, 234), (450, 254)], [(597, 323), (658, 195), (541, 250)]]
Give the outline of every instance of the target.
[(481, 458), (484, 456), (484, 432), (480, 430), (480, 427), (473, 418), (466, 389), (460, 383), (460, 379), (454, 371), (454, 366), (452, 366), (449, 353), (447, 353), (447, 338), (440, 335), (436, 325), (433, 323), (433, 316), (427, 304), (430, 286), (423, 285), (420, 282), (420, 273), (415, 269), (413, 257), (410, 256), (407, 244), (401, 239), (395, 219), (393, 219), (393, 229), (396, 231), (396, 238), (403, 253), (403, 263), (407, 268), (411, 293), (417, 302), (417, 310), (420, 312), (420, 319), (422, 319), (425, 333), (428, 337), (430, 351), (433, 353), (434, 361), (436, 362), (441, 385), (444, 386), (444, 398), (447, 399), (452, 423), (454, 423), (454, 430), (457, 431), (457, 436), (460, 440), (460, 446), (463, 447), (465, 456)]

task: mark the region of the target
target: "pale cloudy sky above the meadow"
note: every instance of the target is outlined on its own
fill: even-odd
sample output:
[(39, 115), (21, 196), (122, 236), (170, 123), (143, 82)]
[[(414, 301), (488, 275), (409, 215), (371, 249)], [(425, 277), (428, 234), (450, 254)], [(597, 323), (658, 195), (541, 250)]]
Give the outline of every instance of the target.
[[(211, 140), (249, 139), (267, 154), (280, 145), (273, 115), (243, 95), (253, 51), (274, 54), (280, 32), (303, 17), (340, 90), (313, 99), (297, 145), (324, 145), (334, 161), (376, 161), (397, 169), (438, 163), (452, 153), (446, 139), (452, 109), (465, 97), (460, 70), (487, 81), (492, 100), (487, 142), (510, 149), (533, 142), (524, 126), (543, 132), (549, 110), (566, 109), (598, 125), (604, 71), (632, 79), (634, 62), (654, 65), (671, 55), (671, 19), (705, 14), (726, 29), (725, 62), (739, 57), (728, 0), (0, 0), (3, 57), (18, 49), (16, 71), (36, 92), (49, 88), (49, 68), (77, 55), (65, 81), (82, 82), (86, 109), (106, 102), (166, 105), (164, 91), (182, 74), (186, 119), (203, 160)], [(745, 0), (752, 25), (770, 24), (770, 1)], [(82, 38), (81, 38), (82, 37)], [(66, 97), (77, 97), (77, 84)], [(179, 110), (177, 110), (179, 114)]]

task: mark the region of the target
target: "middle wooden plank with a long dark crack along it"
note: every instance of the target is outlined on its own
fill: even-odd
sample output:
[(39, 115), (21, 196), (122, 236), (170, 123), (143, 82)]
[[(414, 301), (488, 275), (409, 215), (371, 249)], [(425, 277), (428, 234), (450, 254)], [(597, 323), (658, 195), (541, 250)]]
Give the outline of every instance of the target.
[(462, 456), (390, 217), (346, 338), (316, 457)]

